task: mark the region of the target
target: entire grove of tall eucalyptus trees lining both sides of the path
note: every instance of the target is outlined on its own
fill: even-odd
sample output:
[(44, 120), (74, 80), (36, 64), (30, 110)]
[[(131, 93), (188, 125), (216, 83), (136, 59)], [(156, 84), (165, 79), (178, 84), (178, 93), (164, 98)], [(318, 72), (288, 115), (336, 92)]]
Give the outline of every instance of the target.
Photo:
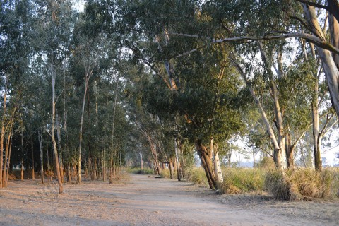
[(180, 180), (197, 155), (217, 189), (239, 141), (292, 171), (338, 145), (338, 0), (73, 4), (1, 1), (0, 187), (121, 165)]

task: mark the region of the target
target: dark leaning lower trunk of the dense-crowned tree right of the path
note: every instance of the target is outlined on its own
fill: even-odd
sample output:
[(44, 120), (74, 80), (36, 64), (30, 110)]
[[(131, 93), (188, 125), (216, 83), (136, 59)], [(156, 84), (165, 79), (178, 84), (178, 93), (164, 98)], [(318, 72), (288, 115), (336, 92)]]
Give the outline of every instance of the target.
[(203, 146), (201, 140), (196, 141), (196, 151), (200, 157), (203, 168), (205, 169), (205, 174), (208, 180), (208, 185), (210, 189), (216, 189), (217, 185), (215, 182), (215, 175), (213, 174), (213, 164), (211, 158), (211, 153), (208, 152), (207, 148)]

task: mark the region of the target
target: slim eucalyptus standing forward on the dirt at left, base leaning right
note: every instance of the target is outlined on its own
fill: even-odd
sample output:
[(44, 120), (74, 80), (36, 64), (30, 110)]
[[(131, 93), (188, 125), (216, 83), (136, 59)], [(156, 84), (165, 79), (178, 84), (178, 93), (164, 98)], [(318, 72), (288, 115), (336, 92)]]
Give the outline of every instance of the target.
[[(54, 135), (57, 100), (59, 100), (58, 96), (61, 91), (56, 90), (56, 88), (58, 85), (57, 78), (61, 78), (61, 73), (64, 71), (67, 57), (70, 54), (73, 19), (76, 14), (71, 7), (71, 1), (66, 0), (37, 1), (35, 6), (35, 13), (33, 13), (35, 15), (35, 36), (32, 37), (35, 42), (32, 42), (32, 45), (35, 47), (36, 56), (44, 62), (44, 72), (49, 75), (52, 83), (52, 114), (50, 114), (52, 123), (47, 124), (46, 129), (52, 139), (59, 192), (62, 193), (60, 172), (62, 163), (59, 162), (57, 141)], [(39, 40), (40, 42), (38, 42)]]

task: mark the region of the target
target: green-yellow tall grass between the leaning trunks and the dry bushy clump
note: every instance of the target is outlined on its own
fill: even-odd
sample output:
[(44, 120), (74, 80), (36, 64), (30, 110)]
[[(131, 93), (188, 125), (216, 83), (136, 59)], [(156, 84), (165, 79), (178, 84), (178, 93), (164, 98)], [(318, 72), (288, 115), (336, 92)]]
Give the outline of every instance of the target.
[(239, 194), (252, 191), (263, 191), (265, 169), (225, 168), (222, 170), (224, 182), (220, 190), (225, 194)]

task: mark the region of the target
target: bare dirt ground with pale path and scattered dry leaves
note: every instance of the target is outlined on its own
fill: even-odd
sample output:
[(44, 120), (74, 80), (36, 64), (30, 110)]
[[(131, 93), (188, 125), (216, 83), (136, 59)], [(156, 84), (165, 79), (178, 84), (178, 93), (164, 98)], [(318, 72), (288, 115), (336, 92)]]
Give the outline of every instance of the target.
[(339, 225), (339, 201), (225, 195), (187, 182), (131, 174), (114, 184), (10, 181), (0, 225)]

